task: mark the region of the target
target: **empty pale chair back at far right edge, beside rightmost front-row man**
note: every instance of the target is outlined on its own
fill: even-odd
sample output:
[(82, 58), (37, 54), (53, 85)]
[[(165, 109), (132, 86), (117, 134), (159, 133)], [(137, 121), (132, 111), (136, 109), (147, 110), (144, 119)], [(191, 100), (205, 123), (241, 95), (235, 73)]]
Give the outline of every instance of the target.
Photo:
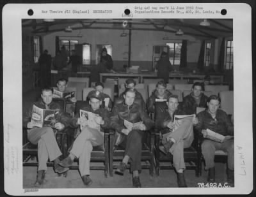
[(228, 114), (234, 115), (234, 91), (220, 91), (220, 108)]

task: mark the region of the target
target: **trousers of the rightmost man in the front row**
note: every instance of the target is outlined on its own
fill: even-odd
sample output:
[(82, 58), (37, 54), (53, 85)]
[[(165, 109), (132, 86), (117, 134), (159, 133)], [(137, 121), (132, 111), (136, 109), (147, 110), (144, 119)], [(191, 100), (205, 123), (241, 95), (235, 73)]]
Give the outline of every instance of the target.
[(234, 140), (227, 140), (226, 142), (220, 143), (206, 139), (201, 147), (205, 159), (205, 170), (214, 167), (215, 150), (223, 150), (227, 153), (228, 169), (234, 170)]

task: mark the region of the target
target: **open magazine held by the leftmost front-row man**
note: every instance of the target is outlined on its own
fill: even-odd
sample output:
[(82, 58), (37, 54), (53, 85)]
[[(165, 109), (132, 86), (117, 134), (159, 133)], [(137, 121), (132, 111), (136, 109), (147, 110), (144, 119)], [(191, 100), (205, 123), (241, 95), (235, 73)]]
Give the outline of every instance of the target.
[(58, 122), (60, 115), (59, 110), (42, 109), (33, 105), (31, 123), (33, 126), (42, 128), (45, 126), (54, 127), (54, 124)]

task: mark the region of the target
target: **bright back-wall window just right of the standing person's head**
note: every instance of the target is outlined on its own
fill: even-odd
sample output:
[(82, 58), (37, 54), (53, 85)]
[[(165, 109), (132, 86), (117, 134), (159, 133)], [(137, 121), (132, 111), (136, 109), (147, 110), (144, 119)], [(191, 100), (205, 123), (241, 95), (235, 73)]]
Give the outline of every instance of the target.
[(169, 60), (172, 65), (180, 66), (181, 42), (166, 43), (169, 47)]

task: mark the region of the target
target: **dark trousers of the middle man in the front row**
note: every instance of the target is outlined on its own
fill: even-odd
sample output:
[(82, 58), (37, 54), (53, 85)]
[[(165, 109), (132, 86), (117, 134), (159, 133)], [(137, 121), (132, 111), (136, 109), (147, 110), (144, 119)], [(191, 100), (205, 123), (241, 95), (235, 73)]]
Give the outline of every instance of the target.
[(120, 143), (125, 148), (125, 156), (130, 157), (131, 171), (141, 170), (142, 138), (145, 131), (132, 130)]

